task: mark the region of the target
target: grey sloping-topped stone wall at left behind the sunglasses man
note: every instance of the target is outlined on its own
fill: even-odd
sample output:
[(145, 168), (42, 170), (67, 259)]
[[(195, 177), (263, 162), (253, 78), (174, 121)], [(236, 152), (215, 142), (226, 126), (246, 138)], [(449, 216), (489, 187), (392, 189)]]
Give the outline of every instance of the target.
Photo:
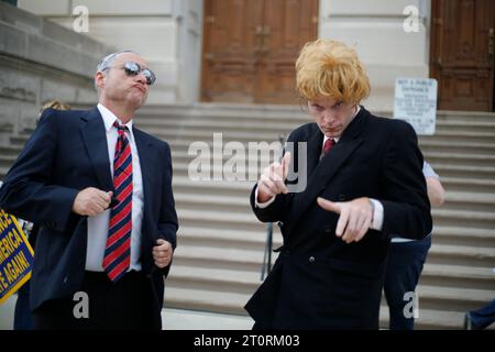
[(33, 128), (43, 102), (95, 103), (96, 67), (113, 48), (0, 2), (0, 131)]

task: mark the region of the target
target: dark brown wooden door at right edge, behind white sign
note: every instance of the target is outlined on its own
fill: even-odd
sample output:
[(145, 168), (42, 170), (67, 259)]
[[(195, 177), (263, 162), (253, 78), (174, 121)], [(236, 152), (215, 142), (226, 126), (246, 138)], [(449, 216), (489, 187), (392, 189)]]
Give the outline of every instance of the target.
[(439, 81), (439, 109), (493, 111), (493, 0), (433, 0), (431, 77)]

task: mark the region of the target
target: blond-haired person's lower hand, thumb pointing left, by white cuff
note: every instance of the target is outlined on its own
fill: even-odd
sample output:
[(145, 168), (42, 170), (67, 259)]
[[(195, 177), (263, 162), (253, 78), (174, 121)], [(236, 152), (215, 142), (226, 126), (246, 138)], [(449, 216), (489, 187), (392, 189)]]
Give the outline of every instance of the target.
[(324, 210), (340, 215), (336, 235), (342, 238), (345, 243), (361, 241), (373, 221), (372, 206), (367, 197), (351, 201), (330, 201), (318, 197), (317, 202)]

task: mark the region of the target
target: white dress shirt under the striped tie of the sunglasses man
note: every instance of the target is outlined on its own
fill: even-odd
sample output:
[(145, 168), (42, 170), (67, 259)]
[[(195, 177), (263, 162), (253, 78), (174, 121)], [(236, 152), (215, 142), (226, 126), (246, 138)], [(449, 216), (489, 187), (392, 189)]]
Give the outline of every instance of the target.
[[(122, 121), (110, 110), (98, 103), (98, 110), (101, 113), (107, 132), (108, 156), (110, 161), (110, 173), (113, 178), (113, 158), (116, 153), (116, 144), (119, 133), (113, 127), (116, 120), (119, 124)], [(125, 136), (131, 145), (132, 154), (132, 232), (131, 232), (131, 265), (130, 271), (141, 271), (141, 226), (143, 222), (143, 178), (141, 174), (140, 157), (135, 145), (134, 134), (132, 132), (132, 120), (125, 127)], [(108, 191), (109, 189), (102, 189)], [(88, 217), (88, 248), (86, 252), (86, 270), (91, 272), (102, 272), (105, 246), (108, 237), (108, 223), (110, 221), (110, 209), (99, 213), (96, 217)]]

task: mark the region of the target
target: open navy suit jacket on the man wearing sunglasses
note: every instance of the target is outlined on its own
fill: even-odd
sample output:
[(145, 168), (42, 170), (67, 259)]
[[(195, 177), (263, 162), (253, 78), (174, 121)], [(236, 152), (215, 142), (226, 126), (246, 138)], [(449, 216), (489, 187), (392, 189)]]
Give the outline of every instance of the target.
[[(169, 266), (154, 265), (157, 239), (176, 246), (177, 215), (172, 193), (172, 157), (166, 142), (133, 128), (140, 155), (144, 209), (141, 239), (142, 271), (154, 293), (155, 326), (161, 327), (164, 275)], [(46, 110), (0, 188), (0, 207), (36, 223), (31, 309), (44, 301), (72, 296), (82, 280), (87, 217), (72, 212), (79, 190), (113, 190), (103, 120), (89, 111)]]

